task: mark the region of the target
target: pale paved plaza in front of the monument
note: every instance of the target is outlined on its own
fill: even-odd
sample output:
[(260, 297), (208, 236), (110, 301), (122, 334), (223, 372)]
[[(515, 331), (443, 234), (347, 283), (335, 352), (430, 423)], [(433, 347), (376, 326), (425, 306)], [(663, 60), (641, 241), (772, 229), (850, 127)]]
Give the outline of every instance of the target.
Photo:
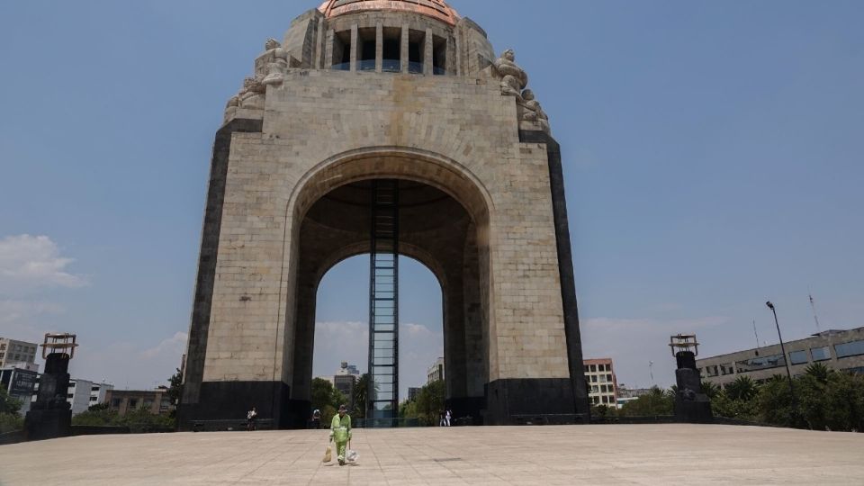
[(730, 426), (71, 437), (0, 446), (0, 484), (864, 484), (864, 435)]

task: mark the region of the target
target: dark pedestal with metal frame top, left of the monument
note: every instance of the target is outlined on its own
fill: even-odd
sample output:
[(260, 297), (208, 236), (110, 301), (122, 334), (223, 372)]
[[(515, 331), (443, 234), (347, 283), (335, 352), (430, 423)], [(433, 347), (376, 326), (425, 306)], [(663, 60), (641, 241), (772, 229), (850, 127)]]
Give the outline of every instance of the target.
[(36, 401), (24, 419), (26, 440), (68, 437), (72, 426), (72, 407), (66, 399), (69, 387), (69, 361), (75, 356), (76, 335), (46, 334), (42, 343), (45, 373), (39, 380)]

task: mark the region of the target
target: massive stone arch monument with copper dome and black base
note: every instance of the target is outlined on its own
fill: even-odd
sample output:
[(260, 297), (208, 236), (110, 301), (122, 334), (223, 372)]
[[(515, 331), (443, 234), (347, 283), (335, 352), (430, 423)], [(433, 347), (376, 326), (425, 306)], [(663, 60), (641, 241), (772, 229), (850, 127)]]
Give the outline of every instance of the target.
[(375, 255), (375, 198), (441, 284), (455, 416), (586, 420), (561, 154), (527, 85), (443, 0), (329, 0), (267, 40), (213, 148), (179, 428), (304, 427), (318, 285)]

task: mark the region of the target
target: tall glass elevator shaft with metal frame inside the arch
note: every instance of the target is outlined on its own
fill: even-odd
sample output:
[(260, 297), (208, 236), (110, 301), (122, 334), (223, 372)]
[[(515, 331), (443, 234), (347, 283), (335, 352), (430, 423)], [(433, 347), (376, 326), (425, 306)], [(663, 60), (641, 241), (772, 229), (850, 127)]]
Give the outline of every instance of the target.
[[(399, 181), (372, 183), (368, 419), (399, 416)], [(394, 420), (376, 420), (391, 427)]]

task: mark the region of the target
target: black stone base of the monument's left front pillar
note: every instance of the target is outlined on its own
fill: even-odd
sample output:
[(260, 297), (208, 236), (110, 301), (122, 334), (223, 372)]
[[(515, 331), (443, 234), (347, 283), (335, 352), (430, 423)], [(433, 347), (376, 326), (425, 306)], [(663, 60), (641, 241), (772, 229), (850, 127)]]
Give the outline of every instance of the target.
[(272, 428), (287, 428), (290, 387), (282, 382), (204, 382), (198, 403), (177, 409), (181, 431), (224, 429), (245, 423), (255, 407), (258, 420)]

